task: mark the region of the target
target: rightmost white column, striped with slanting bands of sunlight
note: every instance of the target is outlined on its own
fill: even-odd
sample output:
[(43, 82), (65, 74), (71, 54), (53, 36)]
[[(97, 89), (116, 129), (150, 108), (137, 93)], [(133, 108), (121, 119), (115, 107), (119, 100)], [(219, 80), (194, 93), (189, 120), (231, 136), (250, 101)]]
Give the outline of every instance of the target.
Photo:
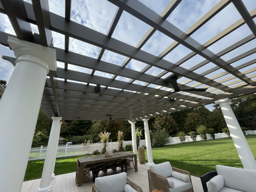
[(236, 119), (236, 116), (230, 107), (230, 99), (217, 100), (215, 103), (220, 104), (221, 111), (227, 123), (230, 135), (235, 144), (240, 160), (245, 169), (256, 170), (256, 160), (252, 154), (244, 133)]

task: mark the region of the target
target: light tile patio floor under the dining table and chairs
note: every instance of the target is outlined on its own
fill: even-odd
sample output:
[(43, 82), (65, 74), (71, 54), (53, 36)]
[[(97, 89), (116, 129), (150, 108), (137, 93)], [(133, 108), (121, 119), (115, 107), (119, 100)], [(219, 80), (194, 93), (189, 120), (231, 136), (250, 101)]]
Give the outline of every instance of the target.
[[(140, 187), (143, 189), (143, 192), (149, 192), (148, 169), (149, 168), (146, 166), (146, 164), (138, 163), (138, 172), (134, 172), (134, 169), (127, 171), (128, 178), (134, 181), (136, 184), (140, 185)], [(108, 175), (120, 172), (120, 168), (117, 168), (117, 172), (108, 170)], [(106, 174), (100, 172), (99, 176), (106, 176)], [(88, 183), (83, 183), (83, 185), (80, 187), (77, 187), (75, 178), (76, 172), (55, 176), (55, 178), (51, 180), (52, 192), (92, 192), (92, 174), (91, 181)], [(203, 192), (200, 178), (195, 176), (191, 176), (191, 178), (194, 192)], [(41, 179), (23, 182), (21, 192), (37, 192), (37, 189), (40, 186), (40, 180)]]

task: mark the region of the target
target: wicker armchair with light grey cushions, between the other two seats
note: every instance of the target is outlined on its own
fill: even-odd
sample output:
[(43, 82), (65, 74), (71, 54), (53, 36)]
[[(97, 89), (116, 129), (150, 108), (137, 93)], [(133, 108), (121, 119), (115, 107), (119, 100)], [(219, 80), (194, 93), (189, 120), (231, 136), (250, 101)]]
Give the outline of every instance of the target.
[(189, 172), (172, 167), (170, 162), (150, 165), (149, 168), (149, 192), (154, 189), (164, 192), (194, 192)]

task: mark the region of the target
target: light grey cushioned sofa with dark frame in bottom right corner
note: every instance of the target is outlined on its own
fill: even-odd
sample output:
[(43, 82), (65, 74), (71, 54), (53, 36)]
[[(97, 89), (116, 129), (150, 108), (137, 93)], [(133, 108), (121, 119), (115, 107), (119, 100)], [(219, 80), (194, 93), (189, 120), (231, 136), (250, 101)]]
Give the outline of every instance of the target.
[(204, 192), (256, 192), (256, 170), (216, 165), (200, 178)]

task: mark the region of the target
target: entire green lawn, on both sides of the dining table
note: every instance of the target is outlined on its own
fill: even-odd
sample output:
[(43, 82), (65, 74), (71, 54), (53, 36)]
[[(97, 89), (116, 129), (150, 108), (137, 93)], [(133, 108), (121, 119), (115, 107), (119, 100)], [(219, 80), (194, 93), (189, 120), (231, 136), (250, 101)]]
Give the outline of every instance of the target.
[[(248, 144), (256, 157), (256, 135), (246, 136)], [(152, 148), (155, 164), (170, 161), (171, 165), (201, 176), (216, 171), (215, 165), (222, 164), (242, 168), (241, 161), (231, 138), (174, 144), (161, 148)], [(83, 156), (62, 157), (56, 159), (55, 175), (76, 171), (76, 160)], [(145, 149), (147, 161), (147, 151)], [(24, 181), (41, 178), (44, 160), (28, 161)]]

